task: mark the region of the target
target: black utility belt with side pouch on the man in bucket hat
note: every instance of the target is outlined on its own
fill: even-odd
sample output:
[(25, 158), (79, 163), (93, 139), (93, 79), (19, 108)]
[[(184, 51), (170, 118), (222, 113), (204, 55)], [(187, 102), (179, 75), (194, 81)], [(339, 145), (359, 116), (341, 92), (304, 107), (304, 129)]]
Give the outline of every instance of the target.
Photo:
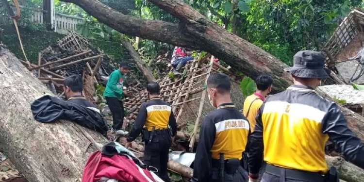
[(274, 176), (280, 176), (280, 182), (284, 182), (285, 179), (304, 182), (339, 182), (339, 176), (335, 167), (331, 167), (325, 176), (318, 172), (287, 169), (270, 164), (266, 165), (265, 172)]

